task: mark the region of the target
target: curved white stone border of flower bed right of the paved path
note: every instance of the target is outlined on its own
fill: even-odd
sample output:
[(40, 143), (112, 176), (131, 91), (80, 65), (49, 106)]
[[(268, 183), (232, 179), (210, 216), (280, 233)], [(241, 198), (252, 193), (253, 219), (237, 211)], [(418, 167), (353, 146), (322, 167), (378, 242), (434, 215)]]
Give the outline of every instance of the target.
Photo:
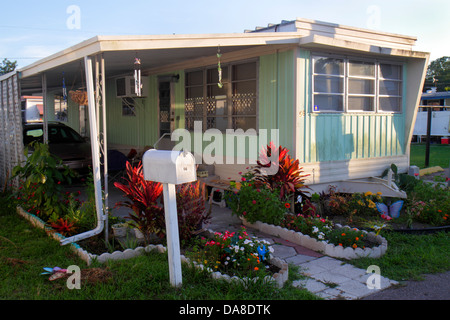
[[(301, 245), (314, 251), (322, 252), (323, 254), (334, 258), (341, 258), (347, 260), (359, 259), (363, 257), (380, 258), (386, 253), (387, 250), (387, 240), (385, 238), (383, 238), (380, 235), (377, 236), (375, 235), (375, 233), (367, 232), (365, 230), (361, 230), (361, 232), (367, 235), (367, 239), (369, 241), (378, 243), (379, 244), (378, 246), (365, 249), (362, 248), (354, 249), (351, 247), (344, 248), (339, 245), (336, 246), (331, 243), (326, 243), (325, 241), (316, 240), (315, 238), (312, 238), (301, 232), (289, 230), (281, 226), (275, 226), (273, 224), (267, 224), (261, 221), (250, 223), (245, 219), (242, 219), (242, 222), (247, 227), (254, 228), (256, 230), (259, 230), (263, 233), (267, 233), (272, 236), (280, 237), (289, 242)], [(354, 229), (349, 226), (342, 226), (340, 224), (335, 224), (335, 227), (338, 229), (341, 228)]]

